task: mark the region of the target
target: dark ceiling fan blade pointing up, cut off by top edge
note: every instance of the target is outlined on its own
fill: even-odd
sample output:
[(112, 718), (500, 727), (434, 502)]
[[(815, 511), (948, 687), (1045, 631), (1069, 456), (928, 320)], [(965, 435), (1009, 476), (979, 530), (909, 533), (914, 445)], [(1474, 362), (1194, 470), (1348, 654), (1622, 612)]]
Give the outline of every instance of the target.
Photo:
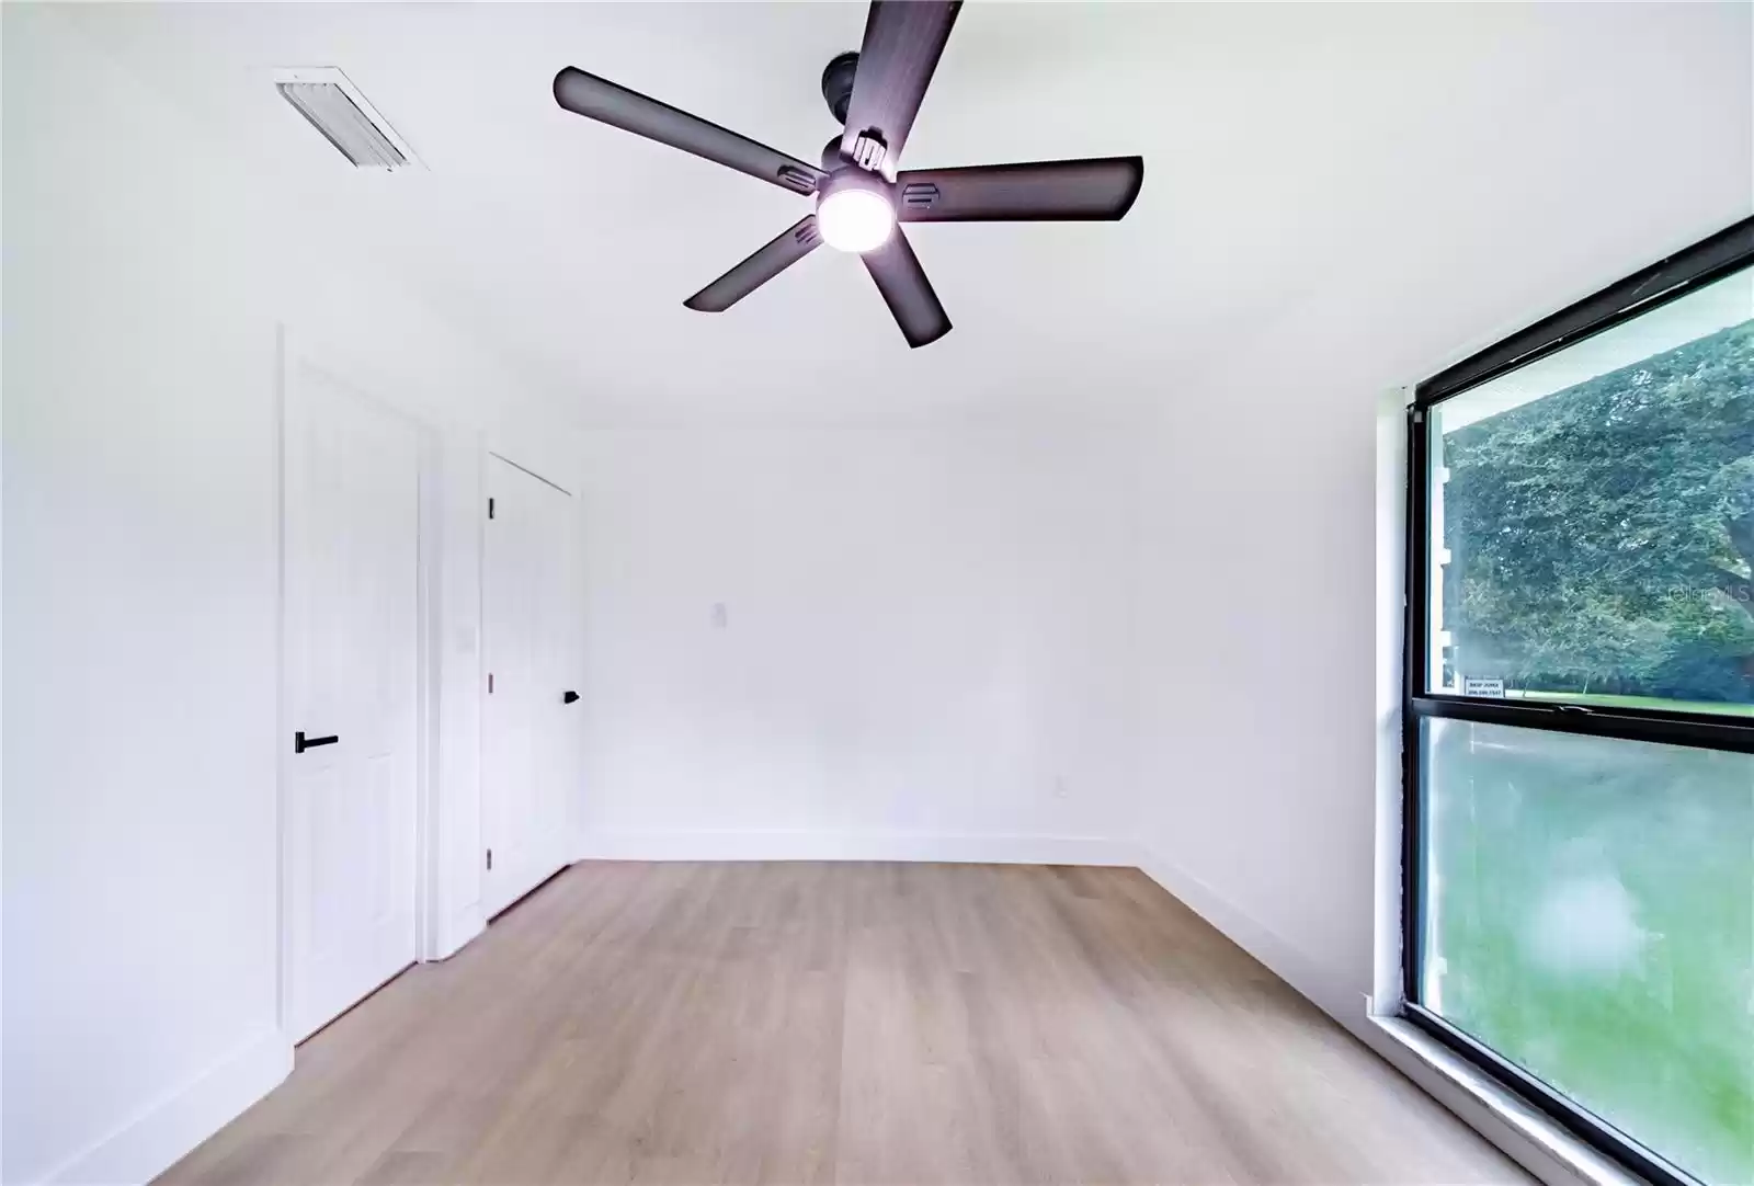
[(875, 130), (886, 146), (884, 172), (895, 175), (895, 161), (902, 156), (961, 7), (959, 0), (872, 0), (852, 75), (847, 130), (840, 137), (844, 156), (870, 167), (872, 161), (861, 158), (856, 146), (866, 130)]

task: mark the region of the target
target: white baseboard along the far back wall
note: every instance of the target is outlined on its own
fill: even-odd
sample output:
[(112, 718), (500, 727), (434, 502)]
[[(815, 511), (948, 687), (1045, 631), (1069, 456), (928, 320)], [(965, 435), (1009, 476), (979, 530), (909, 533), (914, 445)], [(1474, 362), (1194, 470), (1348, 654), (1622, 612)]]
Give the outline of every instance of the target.
[(1121, 840), (931, 832), (588, 832), (596, 861), (947, 861), (965, 865), (1137, 865)]

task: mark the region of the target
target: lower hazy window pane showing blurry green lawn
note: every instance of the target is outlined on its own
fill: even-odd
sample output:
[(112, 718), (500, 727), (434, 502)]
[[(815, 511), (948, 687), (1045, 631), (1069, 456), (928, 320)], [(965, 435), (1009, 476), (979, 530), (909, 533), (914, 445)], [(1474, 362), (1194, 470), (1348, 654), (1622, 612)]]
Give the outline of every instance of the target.
[(1754, 756), (1424, 721), (1421, 1004), (1754, 1182)]

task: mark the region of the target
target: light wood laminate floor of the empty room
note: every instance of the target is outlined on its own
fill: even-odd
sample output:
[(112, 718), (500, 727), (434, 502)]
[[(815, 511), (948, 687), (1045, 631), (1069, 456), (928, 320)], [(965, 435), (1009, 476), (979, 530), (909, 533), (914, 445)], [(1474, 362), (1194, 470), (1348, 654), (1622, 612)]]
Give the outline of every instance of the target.
[(1522, 1182), (1138, 870), (582, 863), (163, 1182)]

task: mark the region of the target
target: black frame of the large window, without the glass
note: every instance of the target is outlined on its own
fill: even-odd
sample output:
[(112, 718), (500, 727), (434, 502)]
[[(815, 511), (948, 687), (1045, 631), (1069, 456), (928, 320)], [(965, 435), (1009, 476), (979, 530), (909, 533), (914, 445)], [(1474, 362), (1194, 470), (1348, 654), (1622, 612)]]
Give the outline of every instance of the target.
[(1414, 388), (1407, 409), (1407, 582), (1401, 695), (1401, 1018), (1484, 1070), (1501, 1086), (1538, 1109), (1626, 1168), (1659, 1186), (1698, 1186), (1633, 1137), (1608, 1126), (1538, 1077), (1470, 1037), (1419, 1004), (1422, 937), (1421, 863), (1424, 835), (1424, 721), (1514, 725), (1587, 737), (1693, 746), (1754, 754), (1754, 718), (1708, 712), (1631, 709), (1526, 700), (1484, 700), (1431, 693), (1430, 630), (1430, 411), (1451, 397), (1554, 354), (1582, 339), (1631, 321), (1659, 305), (1754, 267), (1754, 218), (1677, 251), (1626, 279), (1554, 312), (1505, 340), (1465, 358)]

